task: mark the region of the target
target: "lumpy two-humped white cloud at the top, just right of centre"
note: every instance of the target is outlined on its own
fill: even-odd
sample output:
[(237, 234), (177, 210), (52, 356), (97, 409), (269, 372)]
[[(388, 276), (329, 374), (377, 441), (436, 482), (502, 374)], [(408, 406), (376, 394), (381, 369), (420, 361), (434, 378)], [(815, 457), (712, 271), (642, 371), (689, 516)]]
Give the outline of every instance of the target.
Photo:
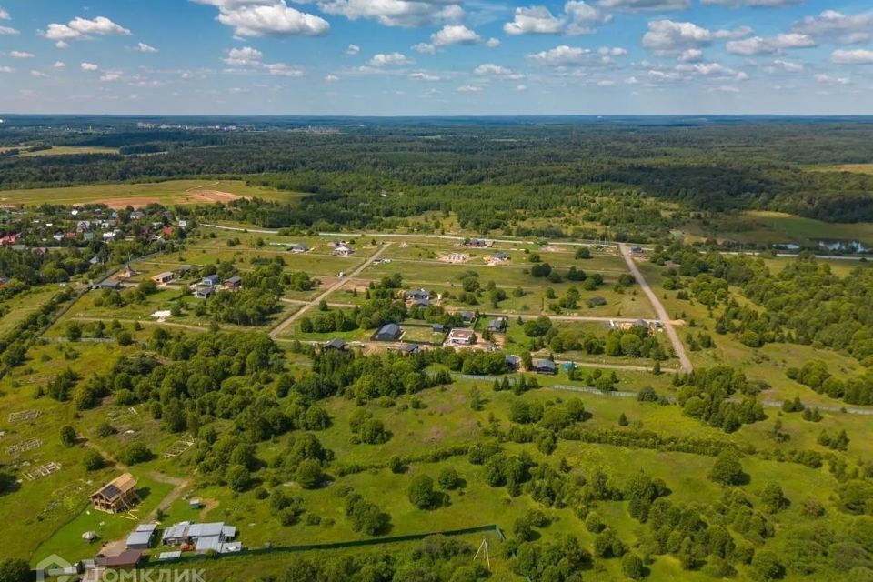
[(546, 6), (518, 7), (512, 22), (503, 25), (507, 35), (589, 35), (597, 25), (612, 20), (596, 6), (571, 0), (563, 15), (553, 15)]

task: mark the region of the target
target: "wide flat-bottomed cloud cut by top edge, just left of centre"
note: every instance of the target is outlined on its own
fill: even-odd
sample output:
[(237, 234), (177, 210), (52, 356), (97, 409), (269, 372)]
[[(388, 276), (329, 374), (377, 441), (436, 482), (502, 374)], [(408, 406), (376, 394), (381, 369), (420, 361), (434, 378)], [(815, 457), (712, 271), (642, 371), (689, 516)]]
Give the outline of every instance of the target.
[(318, 7), (329, 15), (375, 20), (386, 26), (436, 25), (464, 16), (464, 9), (448, 0), (318, 0)]

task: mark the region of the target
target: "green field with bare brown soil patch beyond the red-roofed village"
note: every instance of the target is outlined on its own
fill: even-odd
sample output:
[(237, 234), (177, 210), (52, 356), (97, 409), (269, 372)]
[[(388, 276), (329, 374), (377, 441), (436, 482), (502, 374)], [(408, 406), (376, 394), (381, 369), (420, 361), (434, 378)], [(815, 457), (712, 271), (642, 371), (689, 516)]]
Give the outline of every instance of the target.
[(100, 203), (114, 208), (153, 203), (166, 206), (226, 203), (253, 197), (293, 201), (298, 195), (266, 187), (248, 186), (241, 180), (169, 180), (145, 184), (103, 184), (0, 192), (0, 202), (5, 204), (35, 206)]

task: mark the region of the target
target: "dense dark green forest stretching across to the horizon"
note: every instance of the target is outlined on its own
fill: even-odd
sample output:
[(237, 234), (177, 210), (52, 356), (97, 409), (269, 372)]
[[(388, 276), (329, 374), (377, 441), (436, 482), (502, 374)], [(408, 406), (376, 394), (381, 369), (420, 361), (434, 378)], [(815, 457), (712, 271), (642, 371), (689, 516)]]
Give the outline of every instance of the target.
[[(5, 156), (0, 189), (233, 176), (314, 195), (304, 207), (263, 212), (257, 216), (263, 226), (308, 226), (321, 218), (373, 226), (376, 217), (438, 210), (487, 231), (506, 226), (517, 211), (554, 216), (578, 206), (580, 192), (637, 193), (694, 210), (766, 208), (834, 222), (873, 220), (873, 176), (803, 167), (873, 159), (873, 127), (864, 123), (422, 122), (226, 133), (65, 128), (8, 125), (0, 144), (111, 146), (120, 153)], [(138, 155), (154, 152), (161, 155)]]

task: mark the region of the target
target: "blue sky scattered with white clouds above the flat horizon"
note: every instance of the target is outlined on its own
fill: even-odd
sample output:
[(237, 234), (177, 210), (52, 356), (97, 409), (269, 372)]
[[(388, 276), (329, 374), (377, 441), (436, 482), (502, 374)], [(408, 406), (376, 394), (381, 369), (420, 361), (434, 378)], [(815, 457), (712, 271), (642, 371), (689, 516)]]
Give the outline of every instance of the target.
[(873, 2), (0, 0), (0, 112), (873, 115)]

